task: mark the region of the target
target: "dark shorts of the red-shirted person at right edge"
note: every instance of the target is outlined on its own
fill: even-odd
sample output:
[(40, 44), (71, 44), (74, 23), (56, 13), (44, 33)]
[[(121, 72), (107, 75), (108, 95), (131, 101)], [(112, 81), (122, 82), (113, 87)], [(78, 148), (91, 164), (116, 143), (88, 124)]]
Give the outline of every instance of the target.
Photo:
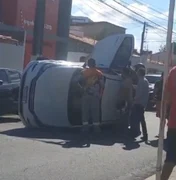
[(176, 165), (176, 129), (167, 132), (166, 162)]

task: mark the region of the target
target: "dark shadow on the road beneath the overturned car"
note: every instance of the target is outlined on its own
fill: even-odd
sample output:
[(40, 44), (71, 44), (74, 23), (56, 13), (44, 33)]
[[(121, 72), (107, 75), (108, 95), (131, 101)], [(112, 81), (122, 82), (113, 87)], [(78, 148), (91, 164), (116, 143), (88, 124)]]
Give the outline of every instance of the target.
[(121, 137), (118, 131), (103, 129), (102, 133), (90, 133), (83, 136), (79, 129), (28, 129), (19, 128), (1, 132), (0, 134), (35, 139), (47, 144), (60, 145), (63, 148), (88, 148), (91, 144), (102, 146), (113, 146), (116, 143), (122, 144), (124, 150), (130, 151), (140, 147), (142, 141), (133, 141)]

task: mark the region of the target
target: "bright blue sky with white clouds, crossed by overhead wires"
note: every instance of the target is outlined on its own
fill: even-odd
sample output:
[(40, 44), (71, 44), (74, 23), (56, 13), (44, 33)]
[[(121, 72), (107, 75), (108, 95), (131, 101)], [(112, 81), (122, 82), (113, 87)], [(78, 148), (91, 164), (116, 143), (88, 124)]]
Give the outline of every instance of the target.
[[(140, 21), (147, 21), (150, 25), (155, 28), (147, 27), (146, 33), (146, 43), (144, 48), (148, 50), (153, 50), (157, 52), (160, 45), (164, 45), (166, 41), (166, 30), (167, 28), (167, 15), (169, 8), (169, 0), (116, 0), (121, 4), (124, 4), (129, 9), (139, 13), (150, 21), (156, 23), (153, 24), (137, 16), (126, 8), (122, 7), (113, 0), (105, 0), (106, 3), (115, 7), (116, 9), (132, 16)], [(140, 2), (140, 3), (139, 3)], [(151, 8), (159, 11), (160, 13), (153, 11)], [(139, 49), (141, 32), (143, 25), (131, 20), (130, 18), (122, 15), (121, 13), (114, 11), (113, 9), (101, 4), (98, 0), (73, 0), (72, 15), (75, 16), (87, 16), (93, 21), (109, 21), (113, 24), (123, 26), (127, 29), (127, 33), (133, 34), (135, 37), (135, 47)], [(176, 13), (175, 13), (176, 19)], [(158, 26), (160, 25), (160, 27)], [(162, 26), (162, 27), (161, 27)], [(161, 30), (162, 29), (162, 30)], [(174, 29), (176, 29), (176, 20), (174, 24)], [(176, 34), (174, 34), (173, 39), (176, 40)]]

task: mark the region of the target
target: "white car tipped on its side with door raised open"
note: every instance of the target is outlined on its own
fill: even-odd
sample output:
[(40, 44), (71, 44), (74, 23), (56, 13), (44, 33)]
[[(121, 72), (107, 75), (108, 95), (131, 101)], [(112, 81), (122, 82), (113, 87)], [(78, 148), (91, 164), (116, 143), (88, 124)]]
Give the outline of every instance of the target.
[[(118, 118), (117, 97), (121, 76), (132, 55), (132, 35), (112, 35), (99, 41), (91, 54), (105, 76), (101, 101), (102, 123)], [(19, 114), (27, 127), (80, 126), (81, 93), (74, 79), (83, 63), (67, 61), (33, 61), (25, 69), (20, 86)]]

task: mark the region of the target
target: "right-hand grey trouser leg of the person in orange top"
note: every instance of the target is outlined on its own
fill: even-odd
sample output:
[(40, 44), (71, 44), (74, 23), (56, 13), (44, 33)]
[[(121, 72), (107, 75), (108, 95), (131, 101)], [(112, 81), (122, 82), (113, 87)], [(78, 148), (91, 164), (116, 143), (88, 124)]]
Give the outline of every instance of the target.
[(100, 100), (97, 97), (91, 97), (90, 114), (95, 131), (100, 131)]

